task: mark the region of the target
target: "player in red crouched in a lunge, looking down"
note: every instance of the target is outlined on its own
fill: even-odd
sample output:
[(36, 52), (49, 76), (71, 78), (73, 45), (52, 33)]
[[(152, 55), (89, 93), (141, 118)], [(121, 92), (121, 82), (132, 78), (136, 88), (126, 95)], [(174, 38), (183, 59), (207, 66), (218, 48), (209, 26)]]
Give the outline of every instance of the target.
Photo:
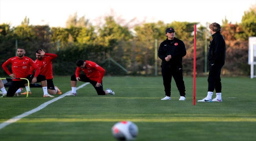
[[(98, 95), (115, 95), (113, 90), (107, 88), (103, 90), (102, 78), (105, 70), (93, 61), (78, 60), (76, 61), (76, 73), (71, 76), (71, 89), (72, 91), (67, 96), (76, 96), (76, 83), (77, 81), (89, 82), (93, 85)], [(83, 71), (85, 74), (80, 74)]]

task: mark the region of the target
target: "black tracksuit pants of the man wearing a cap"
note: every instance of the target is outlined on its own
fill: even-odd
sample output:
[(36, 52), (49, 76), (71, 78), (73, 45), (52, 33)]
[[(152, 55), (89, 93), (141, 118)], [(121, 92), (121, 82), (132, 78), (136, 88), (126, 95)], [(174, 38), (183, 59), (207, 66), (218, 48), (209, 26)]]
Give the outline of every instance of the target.
[(161, 68), (163, 76), (163, 85), (165, 87), (165, 95), (171, 96), (171, 81), (173, 76), (176, 86), (180, 92), (180, 96), (185, 96), (186, 90), (182, 75), (182, 65), (175, 67), (161, 65)]

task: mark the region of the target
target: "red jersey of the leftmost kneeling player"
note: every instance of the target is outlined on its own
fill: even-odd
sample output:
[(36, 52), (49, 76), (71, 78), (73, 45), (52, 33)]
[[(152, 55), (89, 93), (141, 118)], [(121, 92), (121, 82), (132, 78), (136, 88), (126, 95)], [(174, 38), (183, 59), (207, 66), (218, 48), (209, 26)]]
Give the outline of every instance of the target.
[[(34, 75), (35, 77), (37, 77), (40, 72), (39, 67), (37, 67), (37, 65), (33, 62), (33, 60), (26, 56), (22, 58), (15, 56), (3, 63), (2, 67), (8, 75), (12, 74), (7, 68), (7, 66), (10, 64), (11, 64), (11, 70), (13, 74), (16, 74), (16, 78), (26, 78), (28, 75), (32, 74), (30, 73), (30, 66), (36, 70)], [(19, 81), (19, 80), (13, 80), (13, 81)]]

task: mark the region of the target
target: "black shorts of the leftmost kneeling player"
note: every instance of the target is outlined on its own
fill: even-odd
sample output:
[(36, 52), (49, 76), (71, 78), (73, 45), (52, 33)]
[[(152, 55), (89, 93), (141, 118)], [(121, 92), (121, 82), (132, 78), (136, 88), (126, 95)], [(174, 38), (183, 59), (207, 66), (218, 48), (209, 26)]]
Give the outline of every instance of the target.
[[(34, 74), (31, 74), (29, 76), (26, 77), (26, 79), (28, 79), (28, 81), (31, 83), (32, 79), (34, 78)], [(37, 82), (39, 83), (41, 81), (45, 81), (46, 78), (43, 75), (38, 75), (37, 76)], [(27, 80), (20, 80), (20, 81), (11, 81), (11, 85), (9, 87), (9, 89), (7, 90), (7, 97), (12, 97), (14, 96), (15, 92), (20, 88), (20, 87), (24, 87), (24, 84), (28, 83)]]

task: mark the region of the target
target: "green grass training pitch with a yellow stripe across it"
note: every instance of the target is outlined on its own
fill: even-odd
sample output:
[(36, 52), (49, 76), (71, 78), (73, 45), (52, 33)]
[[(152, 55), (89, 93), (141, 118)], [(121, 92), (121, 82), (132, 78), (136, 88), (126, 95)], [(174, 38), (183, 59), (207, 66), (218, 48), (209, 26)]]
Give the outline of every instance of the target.
[[(115, 95), (98, 96), (91, 84), (42, 110), (0, 130), (0, 141), (115, 141), (111, 127), (133, 121), (136, 141), (255, 141), (256, 79), (222, 78), (223, 102), (193, 105), (193, 78), (184, 78), (186, 101), (173, 80), (171, 101), (161, 77), (104, 77), (104, 89)], [(197, 78), (196, 100), (207, 95), (206, 77)], [(62, 94), (71, 90), (70, 77), (55, 77)], [(78, 86), (83, 82), (78, 82)], [(43, 98), (42, 88), (32, 94), (0, 98), (0, 123), (28, 112), (54, 98)], [(24, 92), (24, 90), (22, 91)], [(55, 95), (55, 98), (60, 95)], [(213, 94), (215, 98), (215, 92)]]

